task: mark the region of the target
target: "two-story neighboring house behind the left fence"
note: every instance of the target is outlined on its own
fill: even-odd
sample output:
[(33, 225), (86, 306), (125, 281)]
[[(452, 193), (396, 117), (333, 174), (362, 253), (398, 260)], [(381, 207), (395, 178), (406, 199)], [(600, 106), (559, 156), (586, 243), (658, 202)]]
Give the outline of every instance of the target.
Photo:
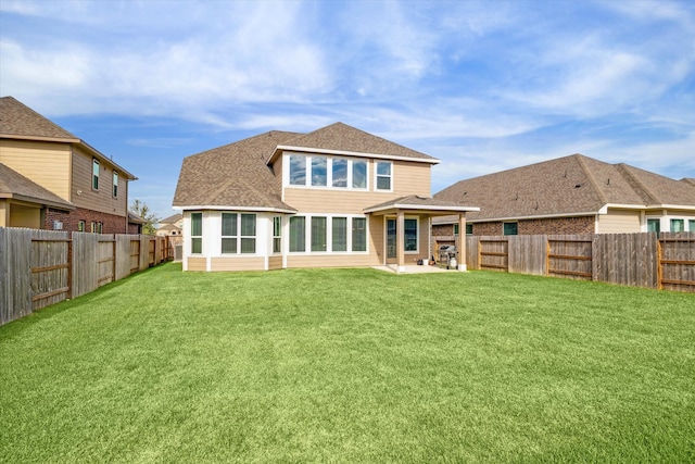
[(7, 227), (129, 230), (128, 183), (136, 177), (12, 97), (0, 98), (0, 163), (61, 200), (5, 192)]

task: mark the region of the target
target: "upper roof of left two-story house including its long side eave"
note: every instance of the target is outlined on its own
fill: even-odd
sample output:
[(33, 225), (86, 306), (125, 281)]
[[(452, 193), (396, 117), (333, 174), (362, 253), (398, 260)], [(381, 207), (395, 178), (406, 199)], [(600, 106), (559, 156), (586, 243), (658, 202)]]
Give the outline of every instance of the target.
[(137, 179), (128, 171), (114, 163), (111, 158), (13, 97), (0, 98), (0, 138), (75, 143), (92, 156), (113, 165), (119, 174), (129, 180)]

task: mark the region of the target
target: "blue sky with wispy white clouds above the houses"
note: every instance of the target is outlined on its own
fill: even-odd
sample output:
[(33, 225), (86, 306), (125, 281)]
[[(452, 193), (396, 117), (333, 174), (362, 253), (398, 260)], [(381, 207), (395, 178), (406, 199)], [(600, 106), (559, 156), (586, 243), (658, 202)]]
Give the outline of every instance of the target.
[(134, 173), (341, 121), (442, 160), (432, 193), (583, 153), (695, 177), (692, 1), (0, 2), (0, 95)]

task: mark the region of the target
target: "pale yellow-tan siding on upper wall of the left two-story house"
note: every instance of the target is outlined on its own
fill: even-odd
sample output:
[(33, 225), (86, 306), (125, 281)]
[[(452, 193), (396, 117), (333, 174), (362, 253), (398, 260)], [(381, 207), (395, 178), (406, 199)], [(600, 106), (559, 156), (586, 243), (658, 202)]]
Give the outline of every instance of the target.
[(0, 163), (70, 201), (70, 145), (0, 140)]

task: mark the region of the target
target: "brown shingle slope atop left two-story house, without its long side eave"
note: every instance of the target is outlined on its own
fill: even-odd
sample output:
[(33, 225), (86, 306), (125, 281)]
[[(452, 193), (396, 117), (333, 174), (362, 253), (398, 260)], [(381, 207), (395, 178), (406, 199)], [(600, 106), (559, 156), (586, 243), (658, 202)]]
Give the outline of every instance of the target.
[(0, 135), (79, 140), (13, 97), (0, 98)]

